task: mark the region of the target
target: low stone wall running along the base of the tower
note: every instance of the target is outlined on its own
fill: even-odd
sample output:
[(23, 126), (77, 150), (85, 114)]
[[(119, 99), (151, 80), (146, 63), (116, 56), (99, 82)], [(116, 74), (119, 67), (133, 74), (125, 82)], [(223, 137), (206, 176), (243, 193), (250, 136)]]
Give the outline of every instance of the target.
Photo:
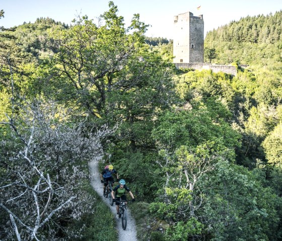
[(209, 63), (175, 63), (177, 69), (192, 68), (197, 70), (212, 69), (213, 72), (224, 72), (232, 75), (237, 75), (237, 69), (232, 65), (209, 64)]

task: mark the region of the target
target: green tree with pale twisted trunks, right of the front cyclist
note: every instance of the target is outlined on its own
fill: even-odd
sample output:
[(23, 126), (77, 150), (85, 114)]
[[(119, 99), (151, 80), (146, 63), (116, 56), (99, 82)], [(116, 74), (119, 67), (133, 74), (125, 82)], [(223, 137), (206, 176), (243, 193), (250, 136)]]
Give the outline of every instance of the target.
[(239, 145), (239, 134), (227, 124), (226, 108), (213, 99), (205, 101), (194, 103), (190, 110), (167, 111), (153, 131), (160, 148), (157, 164), (161, 170), (156, 175), (163, 177), (163, 188), (159, 189), (160, 199), (152, 203), (151, 211), (165, 219), (172, 230), (180, 221), (194, 220), (192, 226), (197, 227), (196, 231), (178, 236), (183, 240), (196, 238), (203, 230), (199, 188), (202, 176), (212, 172), (221, 159), (233, 162), (234, 148)]

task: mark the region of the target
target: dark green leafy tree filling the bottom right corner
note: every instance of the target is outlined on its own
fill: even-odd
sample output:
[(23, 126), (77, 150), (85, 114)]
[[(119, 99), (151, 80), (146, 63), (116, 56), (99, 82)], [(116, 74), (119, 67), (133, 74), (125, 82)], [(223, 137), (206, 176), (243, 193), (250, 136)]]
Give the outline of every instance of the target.
[(278, 240), (278, 200), (246, 168), (220, 161), (199, 188), (209, 240)]

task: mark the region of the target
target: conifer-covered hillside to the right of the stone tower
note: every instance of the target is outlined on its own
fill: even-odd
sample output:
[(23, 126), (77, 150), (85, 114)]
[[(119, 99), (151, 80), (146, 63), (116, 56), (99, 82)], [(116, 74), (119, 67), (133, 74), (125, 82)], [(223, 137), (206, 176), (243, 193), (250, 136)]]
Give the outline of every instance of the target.
[[(205, 48), (215, 48), (214, 63), (238, 62), (281, 69), (282, 11), (241, 18), (206, 34)], [(280, 72), (278, 72), (280, 73)]]

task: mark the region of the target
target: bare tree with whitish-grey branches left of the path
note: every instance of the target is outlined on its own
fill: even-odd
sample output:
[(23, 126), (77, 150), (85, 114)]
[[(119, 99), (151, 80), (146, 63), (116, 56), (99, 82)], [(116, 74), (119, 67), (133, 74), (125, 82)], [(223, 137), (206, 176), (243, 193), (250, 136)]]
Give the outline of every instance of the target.
[[(88, 177), (84, 165), (101, 153), (101, 138), (113, 130), (69, 122), (68, 113), (50, 103), (26, 106), (0, 125), (11, 127), (0, 140), (0, 213), (7, 220), (0, 237), (56, 240), (61, 216), (80, 219), (92, 212), (93, 197), (81, 189)], [(79, 236), (68, 231), (68, 240)]]

